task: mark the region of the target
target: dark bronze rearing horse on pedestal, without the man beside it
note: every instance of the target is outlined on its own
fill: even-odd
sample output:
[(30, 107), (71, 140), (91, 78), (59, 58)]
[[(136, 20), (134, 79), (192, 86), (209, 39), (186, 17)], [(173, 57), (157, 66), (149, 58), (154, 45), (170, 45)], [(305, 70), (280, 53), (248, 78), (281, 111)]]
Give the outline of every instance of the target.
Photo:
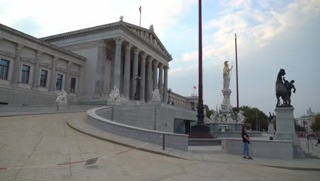
[(284, 71), (284, 69), (280, 69), (276, 81), (276, 97), (278, 100), (276, 104), (277, 107), (280, 106), (280, 97), (283, 100), (283, 105), (289, 106), (289, 95), (286, 90), (286, 86), (284, 86), (284, 82), (282, 81), (282, 76), (284, 75), (286, 75), (286, 71)]

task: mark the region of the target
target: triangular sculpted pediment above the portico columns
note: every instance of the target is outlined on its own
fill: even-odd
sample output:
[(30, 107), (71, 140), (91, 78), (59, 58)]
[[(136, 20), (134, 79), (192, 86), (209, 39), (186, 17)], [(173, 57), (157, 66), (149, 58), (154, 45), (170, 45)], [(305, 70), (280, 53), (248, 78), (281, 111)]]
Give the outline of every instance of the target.
[(167, 49), (165, 49), (155, 32), (150, 29), (131, 25), (129, 23), (124, 23), (124, 27), (126, 27), (130, 32), (132, 32), (136, 36), (139, 36), (139, 38), (142, 38), (142, 40), (144, 40), (146, 43), (163, 53), (168, 57), (168, 59), (172, 60), (172, 56), (170, 55), (170, 53), (168, 53)]

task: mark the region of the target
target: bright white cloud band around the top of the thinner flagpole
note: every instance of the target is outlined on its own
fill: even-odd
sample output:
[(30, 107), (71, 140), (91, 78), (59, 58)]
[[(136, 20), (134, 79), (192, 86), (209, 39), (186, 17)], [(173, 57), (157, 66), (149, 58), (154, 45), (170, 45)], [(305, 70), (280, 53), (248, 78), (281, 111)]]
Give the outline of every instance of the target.
[[(221, 65), (225, 60), (235, 57), (235, 32), (238, 38), (238, 51), (241, 54), (252, 53), (254, 49), (263, 48), (276, 36), (290, 27), (299, 26), (308, 21), (308, 14), (320, 12), (320, 1), (300, 0), (289, 3), (278, 12), (272, 10), (271, 3), (265, 3), (259, 10), (252, 7), (251, 1), (219, 1), (227, 7), (225, 12), (232, 12), (212, 19), (204, 26), (206, 30), (217, 29), (208, 45), (204, 45), (203, 59)], [(253, 23), (252, 23), (253, 22)], [(185, 62), (198, 60), (198, 50), (183, 53)]]

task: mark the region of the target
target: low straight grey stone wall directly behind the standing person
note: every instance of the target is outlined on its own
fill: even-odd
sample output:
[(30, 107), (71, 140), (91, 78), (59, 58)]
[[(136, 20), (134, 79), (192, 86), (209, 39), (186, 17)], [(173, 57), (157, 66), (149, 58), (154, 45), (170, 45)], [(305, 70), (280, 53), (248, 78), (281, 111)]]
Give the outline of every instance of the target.
[[(251, 140), (249, 145), (250, 156), (274, 159), (292, 159), (292, 141)], [(242, 156), (243, 142), (241, 138), (222, 139), (222, 153)]]

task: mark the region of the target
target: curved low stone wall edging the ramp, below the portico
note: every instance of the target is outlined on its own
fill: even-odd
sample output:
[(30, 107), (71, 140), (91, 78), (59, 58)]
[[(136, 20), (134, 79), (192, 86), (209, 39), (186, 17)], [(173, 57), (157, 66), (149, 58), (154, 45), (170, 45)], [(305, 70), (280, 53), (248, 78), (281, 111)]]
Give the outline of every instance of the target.
[(112, 107), (108, 106), (88, 110), (88, 122), (108, 132), (128, 136), (130, 138), (136, 138), (141, 141), (152, 142), (157, 145), (163, 144), (163, 138), (160, 136), (165, 136), (165, 147), (182, 150), (188, 149), (188, 136), (186, 134), (174, 134), (170, 132), (159, 132), (155, 130), (137, 128), (132, 125), (126, 125), (105, 119), (97, 114), (98, 112), (100, 112), (100, 114), (107, 114), (107, 112), (111, 114), (112, 109)]

